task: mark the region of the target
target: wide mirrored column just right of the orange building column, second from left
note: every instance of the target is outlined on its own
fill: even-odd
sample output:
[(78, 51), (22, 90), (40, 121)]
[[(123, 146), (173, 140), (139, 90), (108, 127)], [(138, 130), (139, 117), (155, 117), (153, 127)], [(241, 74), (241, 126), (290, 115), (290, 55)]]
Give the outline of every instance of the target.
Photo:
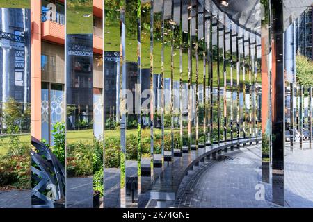
[(65, 1), (65, 207), (93, 207), (93, 1)]

